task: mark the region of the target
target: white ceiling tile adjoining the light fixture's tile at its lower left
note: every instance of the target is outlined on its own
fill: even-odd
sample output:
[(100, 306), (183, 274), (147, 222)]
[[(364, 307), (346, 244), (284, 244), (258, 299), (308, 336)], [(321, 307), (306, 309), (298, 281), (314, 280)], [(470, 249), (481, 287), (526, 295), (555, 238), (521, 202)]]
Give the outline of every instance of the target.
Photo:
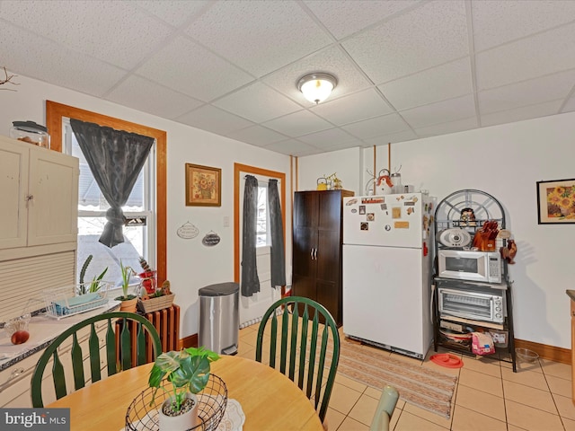
[(214, 105), (258, 123), (302, 110), (296, 102), (259, 82), (224, 96)]

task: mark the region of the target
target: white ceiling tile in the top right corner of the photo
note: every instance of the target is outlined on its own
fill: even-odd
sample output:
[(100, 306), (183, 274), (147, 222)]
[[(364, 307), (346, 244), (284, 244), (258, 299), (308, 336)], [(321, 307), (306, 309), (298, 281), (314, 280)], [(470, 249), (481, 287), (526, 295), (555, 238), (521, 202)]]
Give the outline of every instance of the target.
[(475, 51), (492, 48), (575, 20), (572, 0), (488, 0), (471, 3)]

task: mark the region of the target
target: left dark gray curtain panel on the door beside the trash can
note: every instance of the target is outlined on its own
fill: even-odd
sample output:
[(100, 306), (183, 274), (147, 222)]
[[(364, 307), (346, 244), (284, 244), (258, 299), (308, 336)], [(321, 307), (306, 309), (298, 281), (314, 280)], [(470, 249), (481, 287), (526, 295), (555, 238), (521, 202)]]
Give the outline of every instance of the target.
[(252, 175), (246, 175), (245, 189), (243, 190), (242, 296), (252, 296), (260, 292), (260, 279), (258, 278), (255, 256), (257, 211), (258, 180)]

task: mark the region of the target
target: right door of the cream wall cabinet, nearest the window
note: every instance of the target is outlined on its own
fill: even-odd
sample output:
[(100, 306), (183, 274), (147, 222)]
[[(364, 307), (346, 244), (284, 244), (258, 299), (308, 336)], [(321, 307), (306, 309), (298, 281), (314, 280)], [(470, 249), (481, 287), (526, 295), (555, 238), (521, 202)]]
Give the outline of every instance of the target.
[(31, 148), (28, 245), (75, 242), (78, 225), (78, 159)]

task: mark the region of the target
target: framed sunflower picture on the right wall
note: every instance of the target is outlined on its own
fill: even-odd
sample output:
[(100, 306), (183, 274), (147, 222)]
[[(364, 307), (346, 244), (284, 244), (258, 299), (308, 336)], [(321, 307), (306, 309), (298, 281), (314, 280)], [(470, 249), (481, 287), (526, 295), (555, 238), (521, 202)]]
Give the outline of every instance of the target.
[(537, 181), (539, 224), (575, 223), (575, 179)]

